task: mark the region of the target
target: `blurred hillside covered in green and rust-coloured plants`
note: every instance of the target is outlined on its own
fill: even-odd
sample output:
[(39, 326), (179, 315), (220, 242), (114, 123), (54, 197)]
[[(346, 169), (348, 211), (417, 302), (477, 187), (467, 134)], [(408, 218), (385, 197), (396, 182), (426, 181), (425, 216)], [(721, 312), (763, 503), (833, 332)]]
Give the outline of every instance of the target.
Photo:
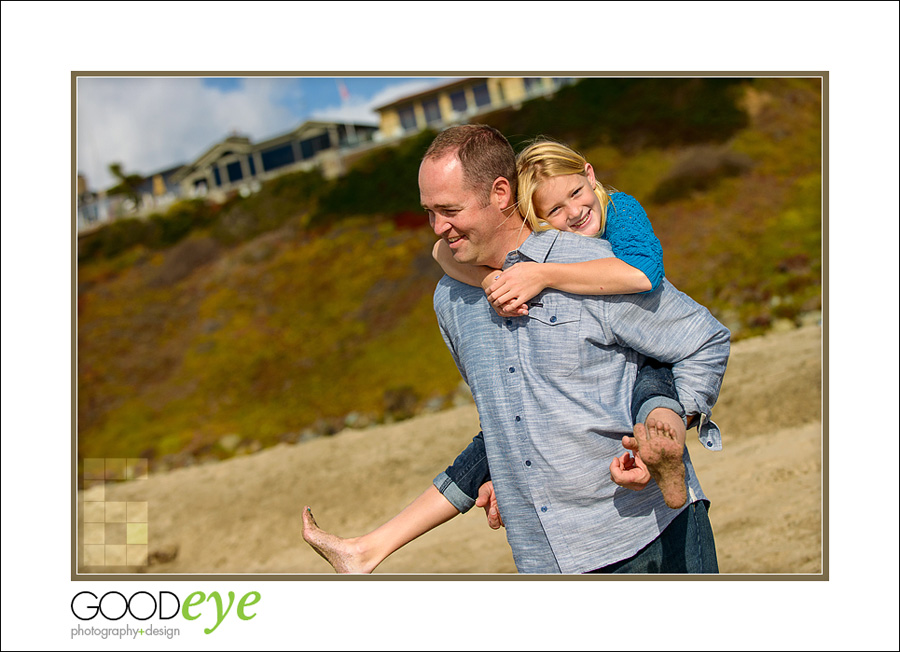
[[(572, 142), (637, 197), (668, 278), (735, 340), (818, 323), (818, 81), (679, 83), (588, 80), (485, 120)], [(416, 212), (426, 144), (80, 243), (79, 458), (161, 471), (466, 403)]]

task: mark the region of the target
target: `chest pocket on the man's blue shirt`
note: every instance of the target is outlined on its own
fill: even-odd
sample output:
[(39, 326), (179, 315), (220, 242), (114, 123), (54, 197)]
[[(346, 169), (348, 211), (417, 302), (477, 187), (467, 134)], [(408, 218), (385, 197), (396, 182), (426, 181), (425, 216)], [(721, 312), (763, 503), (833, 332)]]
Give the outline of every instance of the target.
[(581, 307), (555, 295), (528, 303), (530, 366), (544, 377), (569, 376), (581, 364)]

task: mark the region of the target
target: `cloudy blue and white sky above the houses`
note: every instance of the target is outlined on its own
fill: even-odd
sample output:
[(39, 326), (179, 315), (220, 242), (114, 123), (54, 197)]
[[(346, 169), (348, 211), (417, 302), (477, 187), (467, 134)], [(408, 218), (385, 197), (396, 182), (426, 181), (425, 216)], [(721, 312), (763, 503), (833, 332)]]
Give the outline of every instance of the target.
[(311, 118), (378, 124), (373, 110), (441, 83), (348, 79), (342, 101), (332, 78), (247, 77), (212, 84), (199, 77), (87, 77), (78, 80), (78, 170), (93, 190), (115, 183), (109, 164), (148, 175), (188, 163), (237, 131), (252, 141)]

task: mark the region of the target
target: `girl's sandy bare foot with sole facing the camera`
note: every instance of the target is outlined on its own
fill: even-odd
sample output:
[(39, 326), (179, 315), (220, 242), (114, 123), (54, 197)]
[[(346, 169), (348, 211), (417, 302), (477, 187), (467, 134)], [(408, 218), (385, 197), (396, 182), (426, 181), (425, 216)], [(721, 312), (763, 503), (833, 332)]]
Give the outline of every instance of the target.
[[(676, 415), (676, 418), (681, 423), (680, 417)], [(641, 423), (634, 426), (634, 439), (641, 460), (662, 491), (666, 505), (672, 509), (678, 509), (687, 500), (682, 460), (684, 438), (684, 426), (678, 429), (667, 420), (650, 417), (646, 427)]]

